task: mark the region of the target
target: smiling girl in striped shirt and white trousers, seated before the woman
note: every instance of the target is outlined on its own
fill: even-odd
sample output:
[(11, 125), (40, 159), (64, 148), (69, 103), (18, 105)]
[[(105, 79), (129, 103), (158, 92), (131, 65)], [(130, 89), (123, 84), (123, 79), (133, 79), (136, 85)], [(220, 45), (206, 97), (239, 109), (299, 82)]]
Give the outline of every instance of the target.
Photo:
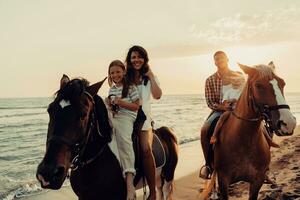
[(133, 123), (139, 109), (139, 94), (136, 86), (127, 83), (125, 78), (126, 68), (121, 61), (113, 61), (109, 65), (108, 74), (111, 87), (107, 101), (114, 113), (111, 122), (115, 130), (123, 175), (126, 179), (127, 200), (134, 200), (136, 199), (133, 185), (135, 158), (131, 135)]

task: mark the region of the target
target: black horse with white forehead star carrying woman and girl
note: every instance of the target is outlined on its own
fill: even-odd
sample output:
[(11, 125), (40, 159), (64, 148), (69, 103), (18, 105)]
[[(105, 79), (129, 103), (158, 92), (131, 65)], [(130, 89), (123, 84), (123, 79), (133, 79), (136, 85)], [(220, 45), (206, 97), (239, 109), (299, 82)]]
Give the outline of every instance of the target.
[[(85, 79), (61, 79), (60, 90), (48, 107), (46, 153), (36, 177), (43, 188), (60, 189), (68, 171), (73, 191), (80, 200), (126, 199), (126, 184), (115, 154), (108, 143), (111, 127), (101, 97), (105, 79), (89, 86)], [(161, 196), (172, 197), (177, 164), (177, 141), (167, 127), (156, 130), (166, 152), (166, 163), (157, 174)]]

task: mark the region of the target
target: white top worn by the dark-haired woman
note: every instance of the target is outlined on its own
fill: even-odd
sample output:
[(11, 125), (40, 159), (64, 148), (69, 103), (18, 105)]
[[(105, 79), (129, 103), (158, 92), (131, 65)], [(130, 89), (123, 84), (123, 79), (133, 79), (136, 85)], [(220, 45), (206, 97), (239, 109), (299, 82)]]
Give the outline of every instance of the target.
[[(159, 85), (159, 81), (156, 76), (154, 76), (154, 80)], [(151, 93), (151, 80), (149, 79), (147, 84), (144, 85), (144, 81), (142, 81), (141, 85), (137, 86), (139, 96), (140, 96), (140, 105), (147, 117), (147, 120), (144, 123), (142, 130), (149, 130), (151, 128), (151, 101), (152, 101), (152, 93)]]

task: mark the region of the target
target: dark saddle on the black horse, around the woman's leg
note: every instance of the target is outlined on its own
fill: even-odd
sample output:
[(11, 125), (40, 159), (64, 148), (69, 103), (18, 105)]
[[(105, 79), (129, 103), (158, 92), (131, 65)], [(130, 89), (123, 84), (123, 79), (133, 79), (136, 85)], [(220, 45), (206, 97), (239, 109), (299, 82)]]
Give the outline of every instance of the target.
[[(141, 134), (142, 127), (144, 122), (146, 121), (146, 115), (144, 114), (142, 108), (138, 110), (138, 114), (136, 120), (134, 122), (134, 128), (132, 133), (132, 141), (133, 141), (133, 149), (135, 154), (135, 169), (136, 169), (136, 176), (134, 178), (134, 185), (137, 185), (141, 178), (144, 177), (144, 170), (143, 170), (143, 158), (141, 154), (141, 147), (139, 143), (138, 134)], [(153, 129), (153, 142), (152, 142), (152, 153), (155, 160), (155, 166), (157, 168), (162, 168), (166, 163), (166, 153), (163, 148), (163, 145), (156, 135), (154, 128)]]

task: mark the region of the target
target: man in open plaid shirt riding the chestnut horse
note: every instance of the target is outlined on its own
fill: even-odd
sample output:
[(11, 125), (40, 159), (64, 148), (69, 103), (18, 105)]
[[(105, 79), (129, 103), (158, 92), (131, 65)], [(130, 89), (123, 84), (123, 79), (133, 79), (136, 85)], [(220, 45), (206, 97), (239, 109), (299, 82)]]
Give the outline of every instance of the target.
[(205, 82), (205, 99), (207, 106), (212, 109), (212, 112), (201, 128), (201, 145), (206, 164), (200, 170), (200, 177), (205, 179), (209, 178), (211, 173), (210, 161), (213, 152), (210, 145), (210, 138), (214, 127), (223, 112), (233, 109), (240, 95), (240, 90), (237, 90), (236, 98), (224, 100), (223, 86), (237, 80), (235, 81), (235, 85), (240, 88), (245, 82), (242, 73), (229, 69), (228, 57), (225, 52), (217, 51), (214, 54), (214, 61), (217, 66), (217, 72), (209, 76)]

